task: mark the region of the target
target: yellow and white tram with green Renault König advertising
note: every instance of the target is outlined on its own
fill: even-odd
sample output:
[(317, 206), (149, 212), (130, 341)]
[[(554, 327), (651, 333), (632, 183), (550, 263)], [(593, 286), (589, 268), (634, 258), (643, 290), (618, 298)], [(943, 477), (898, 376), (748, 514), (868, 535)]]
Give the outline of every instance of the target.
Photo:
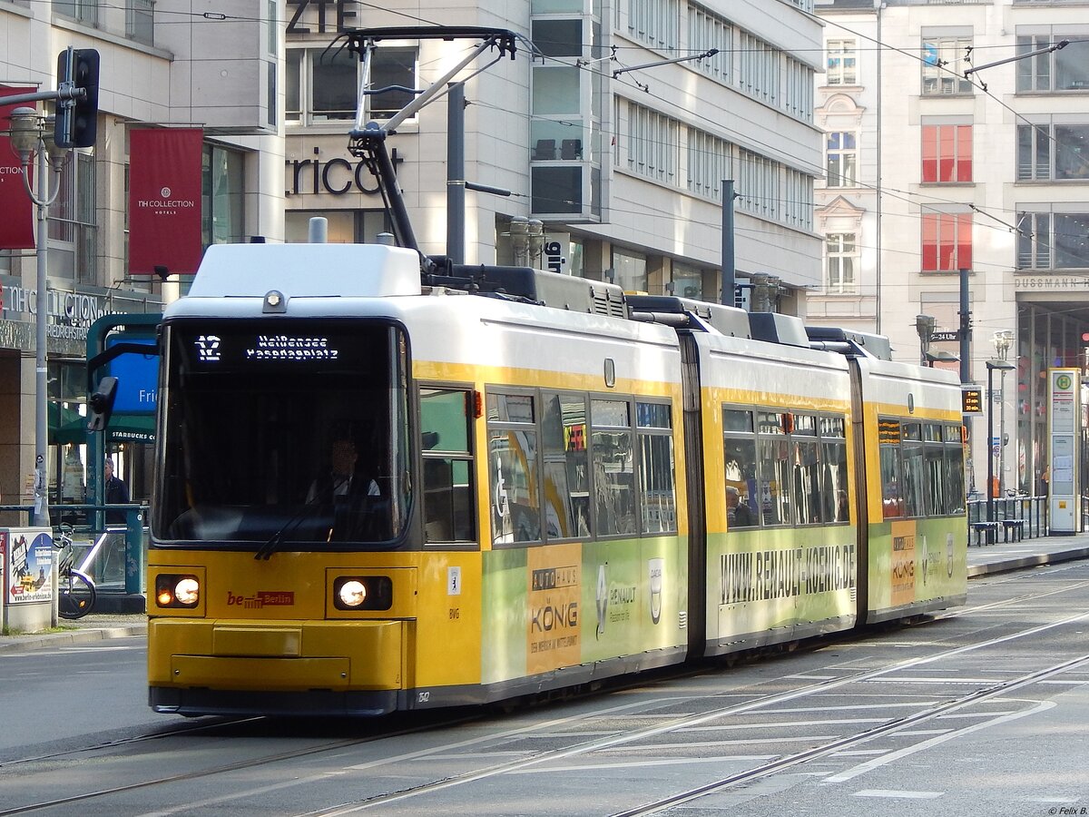
[(485, 703), (963, 600), (949, 373), (783, 316), (446, 271), (219, 245), (168, 308), (158, 711)]

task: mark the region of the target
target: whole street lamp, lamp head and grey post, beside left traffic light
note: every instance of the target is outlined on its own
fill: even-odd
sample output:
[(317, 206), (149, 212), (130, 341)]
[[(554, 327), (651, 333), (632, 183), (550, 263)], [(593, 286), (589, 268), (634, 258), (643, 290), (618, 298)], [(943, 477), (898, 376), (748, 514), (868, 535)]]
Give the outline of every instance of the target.
[[(48, 119), (52, 119), (51, 117)], [(60, 171), (68, 156), (66, 148), (60, 148), (52, 138), (52, 123), (34, 108), (15, 108), (11, 112), (11, 146), (23, 163), (23, 186), (30, 200), (38, 207), (38, 232), (36, 241), (38, 281), (35, 315), (35, 431), (34, 431), (34, 508), (30, 524), (50, 527), (49, 520), (49, 370), (46, 363), (46, 327), (49, 313), (49, 292), (46, 269), (48, 264), (47, 244), (49, 237), (49, 205), (60, 192)], [(30, 158), (37, 156), (38, 167), (35, 185), (30, 188)], [(57, 173), (57, 187), (49, 193), (48, 169)]]

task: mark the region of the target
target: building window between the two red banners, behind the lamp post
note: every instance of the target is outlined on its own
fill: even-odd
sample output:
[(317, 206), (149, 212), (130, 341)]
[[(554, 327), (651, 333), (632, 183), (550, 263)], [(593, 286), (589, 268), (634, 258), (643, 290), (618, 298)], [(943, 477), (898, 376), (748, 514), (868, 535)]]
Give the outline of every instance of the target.
[(49, 273), (98, 283), (95, 258), (95, 157), (73, 151), (49, 208)]

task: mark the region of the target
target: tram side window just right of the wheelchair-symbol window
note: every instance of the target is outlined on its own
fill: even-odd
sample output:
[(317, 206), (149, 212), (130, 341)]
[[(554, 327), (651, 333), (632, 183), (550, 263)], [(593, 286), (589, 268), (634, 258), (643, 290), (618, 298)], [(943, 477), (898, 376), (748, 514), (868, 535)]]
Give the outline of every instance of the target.
[(541, 393), (544, 529), (549, 538), (590, 536), (586, 398)]

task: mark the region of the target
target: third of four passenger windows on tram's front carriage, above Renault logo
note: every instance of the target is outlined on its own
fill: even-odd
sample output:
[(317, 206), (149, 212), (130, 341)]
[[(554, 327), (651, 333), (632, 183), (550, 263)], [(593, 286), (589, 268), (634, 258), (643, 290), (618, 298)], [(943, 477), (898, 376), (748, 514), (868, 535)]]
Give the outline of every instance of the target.
[(637, 525), (631, 404), (625, 400), (591, 400), (590, 425), (595, 531), (599, 537), (634, 534)]

